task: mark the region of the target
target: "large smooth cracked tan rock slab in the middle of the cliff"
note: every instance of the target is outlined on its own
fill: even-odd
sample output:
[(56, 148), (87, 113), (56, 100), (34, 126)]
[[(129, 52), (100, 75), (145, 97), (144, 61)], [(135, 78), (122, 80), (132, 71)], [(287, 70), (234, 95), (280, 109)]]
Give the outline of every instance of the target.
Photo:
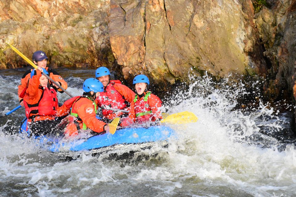
[(204, 71), (266, 74), (252, 2), (110, 1), (109, 36), (125, 78), (184, 81)]

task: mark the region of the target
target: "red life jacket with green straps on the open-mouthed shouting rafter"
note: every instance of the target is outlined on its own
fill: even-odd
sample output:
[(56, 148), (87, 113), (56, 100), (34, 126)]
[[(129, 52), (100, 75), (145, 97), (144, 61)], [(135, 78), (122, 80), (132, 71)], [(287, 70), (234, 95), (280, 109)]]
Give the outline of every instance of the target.
[(152, 111), (148, 103), (148, 96), (151, 92), (147, 92), (143, 99), (138, 100), (138, 94), (136, 94), (134, 103), (135, 103), (135, 114), (136, 121), (138, 122), (147, 122), (151, 121)]

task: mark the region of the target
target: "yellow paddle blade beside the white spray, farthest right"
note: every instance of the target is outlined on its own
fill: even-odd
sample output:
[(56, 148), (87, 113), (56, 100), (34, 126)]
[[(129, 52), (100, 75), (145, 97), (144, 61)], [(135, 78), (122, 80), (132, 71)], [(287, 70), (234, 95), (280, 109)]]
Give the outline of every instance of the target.
[(197, 121), (196, 115), (189, 111), (183, 111), (176, 114), (171, 114), (167, 118), (162, 119), (161, 123), (184, 124), (195, 123)]

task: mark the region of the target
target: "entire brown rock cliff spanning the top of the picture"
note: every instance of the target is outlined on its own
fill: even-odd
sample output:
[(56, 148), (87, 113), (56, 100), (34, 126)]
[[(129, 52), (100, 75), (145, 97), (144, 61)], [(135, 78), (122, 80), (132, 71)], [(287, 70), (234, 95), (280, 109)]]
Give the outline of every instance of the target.
[(46, 51), (51, 66), (107, 66), (125, 79), (249, 74), (267, 98), (292, 98), (295, 1), (0, 0), (0, 68), (26, 65), (8, 42), (29, 58)]

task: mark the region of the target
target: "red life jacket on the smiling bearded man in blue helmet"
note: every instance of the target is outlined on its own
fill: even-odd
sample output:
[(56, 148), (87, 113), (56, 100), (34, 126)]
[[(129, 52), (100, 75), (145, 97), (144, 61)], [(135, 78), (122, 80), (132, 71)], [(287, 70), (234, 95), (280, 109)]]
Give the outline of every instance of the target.
[[(107, 105), (110, 108), (122, 110), (125, 107), (128, 107), (128, 102), (125, 101), (125, 98), (113, 87), (114, 83), (114, 81), (110, 81), (104, 92), (101, 92), (97, 99), (100, 103), (100, 107), (102, 107), (102, 105)], [(113, 113), (114, 111), (112, 110), (102, 110), (103, 116), (108, 116), (109, 114)]]

